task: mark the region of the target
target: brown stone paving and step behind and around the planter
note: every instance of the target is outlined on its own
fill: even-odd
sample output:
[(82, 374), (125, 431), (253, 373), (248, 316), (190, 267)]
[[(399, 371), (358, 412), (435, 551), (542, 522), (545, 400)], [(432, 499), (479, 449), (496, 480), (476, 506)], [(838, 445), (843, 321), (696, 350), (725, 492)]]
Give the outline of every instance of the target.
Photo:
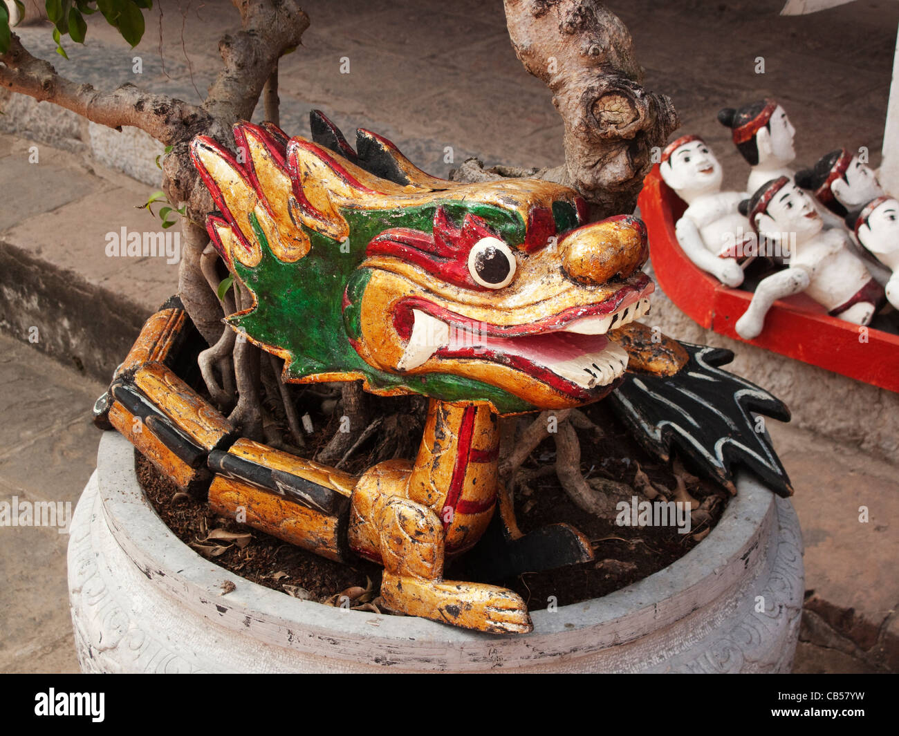
[[(779, 17), (780, 0), (608, 4), (634, 36), (646, 86), (672, 96), (681, 133), (707, 137), (732, 182), (744, 166), (715, 112), (767, 94), (783, 102), (797, 128), (797, 163), (845, 145), (868, 146), (877, 165), (899, 4), (857, 0), (799, 18)], [(307, 12), (303, 46), (280, 67), (281, 124), (290, 133), (307, 135), (307, 112), (320, 108), (347, 132), (361, 126), (392, 137), (437, 175), (475, 153), (488, 165), (561, 160), (561, 122), (543, 84), (515, 58), (501, 4), (312, 0)], [(200, 102), (235, 11), (227, 0), (207, 0), (169, 2), (161, 19), (157, 13), (158, 4), (134, 50), (96, 16), (88, 19), (86, 47), (67, 43), (70, 62), (53, 54), (47, 29), (23, 29), (22, 39), (76, 81), (104, 89), (132, 82)], [(753, 71), (760, 56), (765, 75)], [(348, 75), (340, 72), (343, 58)], [(15, 493), (74, 501), (93, 467), (96, 438), (86, 412), (97, 381), (177, 282), (165, 259), (105, 254), (106, 235), (123, 226), (160, 229), (136, 208), (158, 188), (160, 146), (139, 131), (102, 129), (2, 92), (0, 110), (0, 329), (22, 341), (36, 327), (39, 340), (0, 342), (0, 401), (4, 416), (17, 416), (8, 424), (11, 444), (3, 445), (14, 449), (0, 458), (0, 501)], [(895, 466), (795, 427), (770, 429), (806, 533), (797, 669), (899, 669)], [(859, 522), (859, 506), (868, 506), (868, 523)], [(27, 534), (40, 542), (22, 543)], [(65, 540), (52, 529), (0, 528), (0, 570), (13, 581), (0, 592), (0, 669), (75, 667)]]

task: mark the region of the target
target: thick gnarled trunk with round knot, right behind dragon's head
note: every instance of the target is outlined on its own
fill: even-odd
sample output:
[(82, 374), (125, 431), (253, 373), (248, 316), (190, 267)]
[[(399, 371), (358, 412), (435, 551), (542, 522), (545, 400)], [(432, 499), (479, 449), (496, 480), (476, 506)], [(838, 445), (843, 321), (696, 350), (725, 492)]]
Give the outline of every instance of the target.
[[(565, 164), (534, 175), (581, 192), (594, 218), (633, 212), (652, 148), (664, 146), (679, 122), (668, 97), (643, 88), (628, 29), (596, 0), (503, 4), (515, 53), (547, 84), (565, 122)], [(454, 178), (505, 175), (468, 161)]]

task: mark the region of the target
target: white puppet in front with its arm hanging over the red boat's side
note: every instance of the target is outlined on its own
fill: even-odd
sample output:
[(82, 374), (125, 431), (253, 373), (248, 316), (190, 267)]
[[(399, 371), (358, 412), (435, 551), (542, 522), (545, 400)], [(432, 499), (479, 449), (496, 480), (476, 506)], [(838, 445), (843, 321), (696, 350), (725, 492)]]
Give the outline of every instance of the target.
[(762, 279), (736, 332), (758, 337), (765, 315), (780, 298), (805, 291), (832, 316), (869, 324), (886, 303), (883, 287), (849, 248), (847, 235), (824, 229), (823, 219), (805, 191), (781, 176), (763, 184), (741, 208), (760, 239), (777, 241), (789, 253), (788, 267)]

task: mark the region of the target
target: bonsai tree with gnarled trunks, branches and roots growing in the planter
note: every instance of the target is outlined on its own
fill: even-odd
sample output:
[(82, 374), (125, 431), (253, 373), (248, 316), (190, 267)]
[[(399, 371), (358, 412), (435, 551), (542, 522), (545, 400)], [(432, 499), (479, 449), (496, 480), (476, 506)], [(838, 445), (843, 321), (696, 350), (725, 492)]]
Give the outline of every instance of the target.
[[(526, 175), (563, 184), (583, 196), (592, 221), (633, 211), (653, 162), (652, 151), (664, 145), (678, 120), (668, 97), (642, 87), (643, 71), (627, 28), (595, 0), (504, 0), (503, 4), (518, 58), (531, 75), (547, 84), (565, 124), (565, 161), (539, 170), (485, 169), (471, 159), (453, 178), (484, 182)], [(76, 84), (49, 60), (24, 48), (11, 27), (27, 17), (28, 9), (19, 0), (0, 4), (0, 84), (112, 129), (144, 130), (165, 146), (161, 189), (183, 213), (177, 289), (193, 324), (209, 343), (199, 358), (209, 395), (243, 436), (264, 439), (275, 447), (283, 443), (263, 418), (265, 407), (277, 404), (271, 412), (283, 417), (294, 444), (302, 445), (297, 408), (280, 383), (280, 360), (262, 354), (249, 341), (236, 340), (236, 333), (223, 323), (248, 306), (250, 295), (227, 278), (209, 243), (204, 222), (215, 206), (191, 164), (189, 144), (202, 135), (233, 150), (233, 126), (252, 118), (261, 97), (265, 119), (279, 123), (279, 60), (298, 49), (310, 20), (297, 0), (234, 0), (234, 5), (240, 28), (219, 41), (222, 67), (201, 105), (133, 84), (115, 90)], [(48, 0), (46, 10), (58, 44), (65, 36), (84, 43), (84, 16), (100, 11), (133, 47), (144, 32), (143, 13), (151, 6), (152, 0)], [(57, 50), (65, 56), (61, 46)], [(350, 431), (334, 433), (316, 456), (323, 462), (340, 460), (370, 433), (360, 383), (344, 384), (341, 393)], [(571, 410), (556, 412), (554, 422), (543, 414), (530, 420), (505, 456), (501, 478), (513, 478), (552, 426), (556, 471), (565, 490), (584, 510), (610, 511), (614, 504), (589, 486), (579, 470), (580, 448), (571, 422), (585, 421), (589, 420), (583, 414)]]

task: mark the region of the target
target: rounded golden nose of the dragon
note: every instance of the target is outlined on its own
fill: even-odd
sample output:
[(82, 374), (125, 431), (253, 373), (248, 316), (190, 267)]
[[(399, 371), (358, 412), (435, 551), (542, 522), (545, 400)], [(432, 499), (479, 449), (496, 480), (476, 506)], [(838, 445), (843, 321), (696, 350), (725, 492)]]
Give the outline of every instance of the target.
[(585, 286), (627, 279), (649, 258), (646, 226), (620, 215), (578, 227), (559, 243), (565, 274)]

